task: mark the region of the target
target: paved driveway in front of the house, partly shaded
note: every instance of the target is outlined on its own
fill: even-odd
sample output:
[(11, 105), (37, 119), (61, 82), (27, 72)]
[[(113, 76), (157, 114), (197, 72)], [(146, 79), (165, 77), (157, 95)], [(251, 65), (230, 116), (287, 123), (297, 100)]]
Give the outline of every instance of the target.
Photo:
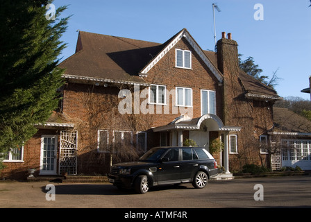
[[(49, 184), (55, 187), (55, 200), (47, 200), (52, 197), (47, 195)], [(254, 194), (263, 200), (254, 200)], [(0, 207), (311, 207), (311, 176), (212, 180), (205, 189), (185, 184), (156, 187), (146, 194), (119, 191), (109, 183), (0, 182)]]

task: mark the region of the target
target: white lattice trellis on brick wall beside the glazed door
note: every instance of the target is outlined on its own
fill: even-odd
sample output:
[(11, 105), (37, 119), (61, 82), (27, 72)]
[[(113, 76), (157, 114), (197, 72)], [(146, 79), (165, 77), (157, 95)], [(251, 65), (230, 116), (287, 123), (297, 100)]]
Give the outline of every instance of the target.
[(78, 133), (77, 131), (60, 131), (60, 173), (76, 175)]

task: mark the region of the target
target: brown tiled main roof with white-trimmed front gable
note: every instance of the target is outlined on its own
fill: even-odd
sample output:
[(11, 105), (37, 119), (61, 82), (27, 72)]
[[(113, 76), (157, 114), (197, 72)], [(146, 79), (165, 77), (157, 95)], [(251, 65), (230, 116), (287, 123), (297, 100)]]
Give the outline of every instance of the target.
[(76, 53), (59, 67), (66, 69), (64, 78), (148, 85), (142, 77), (182, 37), (222, 82), (221, 72), (185, 28), (163, 44), (80, 31)]

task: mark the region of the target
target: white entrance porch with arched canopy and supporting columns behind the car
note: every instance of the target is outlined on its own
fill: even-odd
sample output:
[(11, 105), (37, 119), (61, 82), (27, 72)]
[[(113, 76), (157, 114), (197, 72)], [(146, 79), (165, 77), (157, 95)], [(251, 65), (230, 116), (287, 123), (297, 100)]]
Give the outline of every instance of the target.
[[(229, 172), (229, 143), (228, 135), (230, 132), (239, 132), (241, 127), (238, 126), (224, 126), (224, 123), (215, 114), (204, 114), (201, 117), (190, 118), (187, 115), (181, 115), (165, 126), (158, 126), (153, 128), (154, 132), (171, 132), (172, 137), (178, 137), (178, 144), (170, 143), (170, 146), (183, 146), (183, 130), (192, 131), (218, 131), (224, 133), (224, 167), (226, 173)], [(173, 141), (173, 140), (172, 140)]]

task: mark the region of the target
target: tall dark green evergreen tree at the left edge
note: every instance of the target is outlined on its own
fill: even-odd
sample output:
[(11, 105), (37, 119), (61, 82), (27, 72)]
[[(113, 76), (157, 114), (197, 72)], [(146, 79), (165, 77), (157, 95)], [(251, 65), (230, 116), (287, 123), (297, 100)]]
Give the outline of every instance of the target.
[(0, 154), (20, 147), (58, 106), (58, 56), (69, 17), (46, 16), (48, 0), (0, 0)]

